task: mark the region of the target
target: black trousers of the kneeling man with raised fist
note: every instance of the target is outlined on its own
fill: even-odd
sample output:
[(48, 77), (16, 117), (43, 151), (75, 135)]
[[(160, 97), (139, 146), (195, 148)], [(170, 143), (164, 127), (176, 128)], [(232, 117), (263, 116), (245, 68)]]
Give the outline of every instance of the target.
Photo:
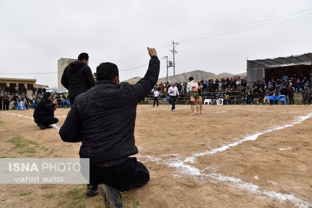
[(150, 180), (147, 168), (136, 157), (129, 157), (125, 162), (112, 167), (98, 167), (90, 164), (90, 184), (107, 184), (128, 191), (140, 187)]

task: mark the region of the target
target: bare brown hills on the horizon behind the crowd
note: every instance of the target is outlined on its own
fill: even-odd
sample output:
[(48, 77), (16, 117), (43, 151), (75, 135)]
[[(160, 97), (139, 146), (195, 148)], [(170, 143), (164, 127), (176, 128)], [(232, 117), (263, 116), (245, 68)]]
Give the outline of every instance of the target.
[[(176, 75), (176, 82), (181, 82), (181, 83), (188, 82), (190, 76), (193, 76), (195, 80), (202, 80), (202, 79), (205, 80), (205, 79), (220, 79), (220, 78), (226, 78), (226, 77), (231, 78), (234, 76), (246, 77), (246, 75), (247, 75), (247, 73), (242, 73), (239, 75), (232, 75), (229, 73), (221, 73), (221, 74), (215, 75), (214, 73), (211, 73), (211, 72), (195, 70), (192, 72), (185, 72), (185, 73)], [(141, 78), (142, 77), (136, 76), (134, 78), (125, 80), (125, 82), (129, 82), (130, 84), (135, 84)], [(160, 82), (164, 83), (164, 82), (166, 82), (166, 79), (167, 79), (167, 77), (158, 78), (157, 83), (160, 83)], [(168, 76), (168, 81), (173, 82), (174, 76)]]

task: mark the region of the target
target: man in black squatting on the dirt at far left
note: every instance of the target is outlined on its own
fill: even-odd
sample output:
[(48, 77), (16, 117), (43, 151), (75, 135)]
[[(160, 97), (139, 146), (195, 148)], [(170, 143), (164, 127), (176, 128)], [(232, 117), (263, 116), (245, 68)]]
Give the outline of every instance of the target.
[(33, 115), (34, 121), (40, 129), (52, 128), (50, 124), (59, 122), (59, 119), (54, 117), (55, 110), (57, 110), (57, 100), (51, 100), (51, 93), (44, 93), (36, 105)]

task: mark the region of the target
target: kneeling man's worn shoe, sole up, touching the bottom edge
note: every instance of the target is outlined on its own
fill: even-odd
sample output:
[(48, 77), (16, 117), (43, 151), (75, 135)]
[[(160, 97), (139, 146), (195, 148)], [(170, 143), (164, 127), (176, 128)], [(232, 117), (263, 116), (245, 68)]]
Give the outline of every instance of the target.
[(122, 208), (122, 202), (120, 202), (120, 191), (107, 184), (99, 184), (98, 191), (105, 201), (108, 208)]

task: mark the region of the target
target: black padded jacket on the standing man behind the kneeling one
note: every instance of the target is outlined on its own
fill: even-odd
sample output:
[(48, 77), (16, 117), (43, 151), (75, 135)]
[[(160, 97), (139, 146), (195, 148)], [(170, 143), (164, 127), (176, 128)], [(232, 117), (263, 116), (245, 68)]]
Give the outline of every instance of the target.
[(68, 89), (70, 98), (90, 90), (95, 86), (96, 81), (92, 76), (90, 67), (82, 61), (74, 61), (65, 69), (61, 78), (62, 85)]

